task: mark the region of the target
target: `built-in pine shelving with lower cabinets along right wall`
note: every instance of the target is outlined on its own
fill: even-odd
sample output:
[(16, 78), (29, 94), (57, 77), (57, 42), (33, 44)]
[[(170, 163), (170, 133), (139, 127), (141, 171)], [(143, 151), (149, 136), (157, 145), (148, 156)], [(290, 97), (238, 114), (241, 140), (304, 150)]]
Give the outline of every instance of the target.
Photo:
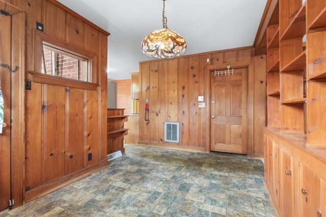
[(323, 216), (326, 1), (278, 3), (279, 25), (266, 29), (265, 183), (280, 216)]

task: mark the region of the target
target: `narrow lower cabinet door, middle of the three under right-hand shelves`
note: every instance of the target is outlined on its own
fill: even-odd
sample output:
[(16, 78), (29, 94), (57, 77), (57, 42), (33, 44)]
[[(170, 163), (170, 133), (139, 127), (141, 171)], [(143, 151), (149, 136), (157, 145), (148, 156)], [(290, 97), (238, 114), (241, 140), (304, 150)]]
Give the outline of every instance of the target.
[(280, 205), (282, 216), (294, 214), (293, 157), (280, 148)]

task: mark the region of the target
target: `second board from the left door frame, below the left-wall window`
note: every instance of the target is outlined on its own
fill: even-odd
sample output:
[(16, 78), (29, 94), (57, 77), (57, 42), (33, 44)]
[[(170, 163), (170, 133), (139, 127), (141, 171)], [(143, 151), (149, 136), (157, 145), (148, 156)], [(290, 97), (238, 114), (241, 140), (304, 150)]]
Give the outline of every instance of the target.
[(65, 87), (43, 84), (43, 183), (66, 175)]

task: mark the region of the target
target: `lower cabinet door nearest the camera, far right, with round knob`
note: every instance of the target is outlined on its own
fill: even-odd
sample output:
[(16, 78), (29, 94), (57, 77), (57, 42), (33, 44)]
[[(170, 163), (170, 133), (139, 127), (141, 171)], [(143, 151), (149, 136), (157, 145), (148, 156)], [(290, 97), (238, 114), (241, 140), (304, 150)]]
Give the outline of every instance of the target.
[(300, 216), (321, 216), (321, 179), (302, 165)]

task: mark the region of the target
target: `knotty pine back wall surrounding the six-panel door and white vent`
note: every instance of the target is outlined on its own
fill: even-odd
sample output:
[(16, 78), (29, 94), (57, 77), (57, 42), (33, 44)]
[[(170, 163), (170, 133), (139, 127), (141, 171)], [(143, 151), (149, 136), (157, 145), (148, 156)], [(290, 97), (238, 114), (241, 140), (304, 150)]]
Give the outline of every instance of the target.
[[(248, 156), (263, 157), (265, 126), (266, 57), (253, 56), (252, 47), (158, 59), (140, 63), (139, 143), (189, 151), (210, 151), (210, 75), (212, 65), (250, 65), (248, 74)], [(253, 66), (253, 67), (252, 67)], [(205, 108), (198, 107), (204, 96)], [(149, 121), (145, 102), (149, 100)], [(164, 141), (164, 122), (180, 123), (180, 142)]]

